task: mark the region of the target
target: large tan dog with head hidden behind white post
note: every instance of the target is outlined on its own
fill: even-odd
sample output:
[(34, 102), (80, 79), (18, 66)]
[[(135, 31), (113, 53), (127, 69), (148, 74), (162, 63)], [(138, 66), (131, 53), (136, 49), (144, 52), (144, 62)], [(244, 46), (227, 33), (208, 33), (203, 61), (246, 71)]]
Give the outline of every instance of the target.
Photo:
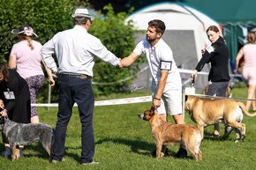
[[(245, 115), (255, 116), (256, 113), (250, 114), (245, 109), (245, 104), (236, 100), (225, 99), (205, 99), (193, 95), (185, 97), (185, 110), (189, 113), (192, 121), (197, 124), (202, 137), (204, 127), (217, 122), (223, 122), (230, 127), (237, 129), (239, 137), (236, 142), (245, 140), (245, 123), (242, 123), (243, 112)], [(226, 137), (228, 134), (224, 134)]]

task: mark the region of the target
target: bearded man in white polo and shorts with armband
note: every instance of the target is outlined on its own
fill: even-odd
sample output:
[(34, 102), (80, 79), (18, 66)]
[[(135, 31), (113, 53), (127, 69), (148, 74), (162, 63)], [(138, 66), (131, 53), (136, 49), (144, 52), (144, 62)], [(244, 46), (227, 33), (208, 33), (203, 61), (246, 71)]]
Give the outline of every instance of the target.
[[(153, 106), (161, 119), (167, 121), (167, 113), (172, 115), (177, 124), (184, 123), (182, 114), (182, 84), (172, 51), (162, 40), (165, 25), (162, 20), (154, 19), (148, 22), (146, 39), (140, 41), (132, 54), (121, 60), (123, 67), (135, 62), (142, 53), (147, 56), (147, 62), (153, 78)], [(176, 154), (177, 158), (187, 156), (183, 145)]]

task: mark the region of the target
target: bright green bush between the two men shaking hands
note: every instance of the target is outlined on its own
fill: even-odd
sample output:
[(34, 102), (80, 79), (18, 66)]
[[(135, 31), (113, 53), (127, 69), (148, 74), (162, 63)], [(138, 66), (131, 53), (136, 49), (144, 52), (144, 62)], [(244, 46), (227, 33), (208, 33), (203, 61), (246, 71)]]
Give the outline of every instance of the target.
[[(127, 13), (119, 12), (115, 14), (112, 6), (106, 5), (103, 10), (105, 15), (99, 15), (94, 19), (94, 23), (89, 30), (98, 37), (102, 43), (117, 57), (130, 55), (134, 48), (134, 34), (136, 33), (132, 22), (125, 24)], [(127, 87), (136, 78), (139, 70), (139, 62), (136, 62), (129, 69), (116, 70), (109, 64), (103, 63), (98, 58), (94, 65), (94, 92), (96, 95), (108, 94), (111, 92), (128, 92)]]

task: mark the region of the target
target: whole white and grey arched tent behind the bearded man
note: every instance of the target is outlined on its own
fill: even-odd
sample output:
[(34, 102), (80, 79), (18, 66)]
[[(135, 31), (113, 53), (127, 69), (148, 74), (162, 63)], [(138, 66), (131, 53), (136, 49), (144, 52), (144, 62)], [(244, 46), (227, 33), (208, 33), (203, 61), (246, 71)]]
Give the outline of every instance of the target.
[[(201, 49), (210, 42), (207, 40), (206, 29), (208, 26), (218, 26), (213, 19), (208, 18), (200, 11), (196, 11), (184, 4), (161, 3), (150, 5), (140, 11), (134, 12), (126, 21), (132, 20), (133, 25), (141, 33), (136, 35), (135, 43), (146, 36), (148, 21), (161, 19), (166, 25), (162, 39), (169, 44), (173, 51), (177, 67), (180, 69), (194, 70), (201, 58)], [(203, 70), (208, 71), (206, 65)], [(141, 81), (141, 77), (149, 78), (149, 70), (138, 75), (134, 84), (148, 87), (151, 83)], [(190, 84), (190, 74), (181, 73), (184, 86)], [(197, 91), (202, 91), (207, 85), (207, 75), (200, 75), (196, 81)]]

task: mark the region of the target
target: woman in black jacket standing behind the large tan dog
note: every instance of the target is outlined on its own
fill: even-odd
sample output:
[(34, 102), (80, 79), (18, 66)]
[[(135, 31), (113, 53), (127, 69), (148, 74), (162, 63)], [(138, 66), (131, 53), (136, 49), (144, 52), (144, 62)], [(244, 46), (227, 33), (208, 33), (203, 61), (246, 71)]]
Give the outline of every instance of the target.
[[(208, 76), (210, 82), (207, 95), (225, 97), (225, 92), (230, 83), (229, 75), (229, 49), (217, 26), (207, 28), (207, 37), (212, 42), (211, 47), (202, 50), (202, 58), (192, 72), (192, 79), (197, 78), (198, 71), (202, 70), (206, 63), (211, 63), (211, 70)], [(225, 135), (230, 133), (230, 128), (225, 128)], [(219, 124), (215, 124), (214, 137), (220, 137)]]

